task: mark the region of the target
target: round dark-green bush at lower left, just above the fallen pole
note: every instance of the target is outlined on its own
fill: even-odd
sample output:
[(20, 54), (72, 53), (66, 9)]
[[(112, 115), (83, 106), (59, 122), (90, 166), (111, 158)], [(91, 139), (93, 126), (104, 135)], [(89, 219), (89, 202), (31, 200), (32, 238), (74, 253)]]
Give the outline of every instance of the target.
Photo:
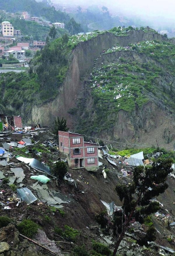
[(38, 232), (38, 224), (32, 220), (23, 220), (18, 226), (17, 229), (19, 232), (26, 237), (33, 238), (34, 235)]

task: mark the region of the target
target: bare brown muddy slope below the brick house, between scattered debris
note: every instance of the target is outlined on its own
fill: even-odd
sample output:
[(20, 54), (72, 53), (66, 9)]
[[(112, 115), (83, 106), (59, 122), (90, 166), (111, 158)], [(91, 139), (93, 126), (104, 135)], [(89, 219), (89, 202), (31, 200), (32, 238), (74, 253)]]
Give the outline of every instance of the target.
[[(3, 143), (3, 141), (6, 141), (9, 137), (11, 138), (11, 141), (19, 141), (24, 136), (26, 135), (9, 134), (1, 141)], [(54, 136), (51, 132), (46, 131), (39, 135), (34, 135), (32, 139), (35, 142), (40, 141), (38, 144), (42, 144), (45, 141), (54, 141)], [(33, 146), (29, 147), (32, 148)], [(27, 151), (27, 146), (25, 150)], [(25, 150), (23, 150), (22, 153), (24, 153)], [(4, 175), (8, 178), (12, 175), (12, 173), (10, 173), (10, 168), (22, 168), (26, 175), (22, 183), (24, 186), (31, 189), (30, 186), (32, 186), (36, 180), (30, 179), (30, 176), (39, 175), (41, 173), (37, 173), (37, 171), (33, 170), (25, 163), (19, 162), (15, 158), (15, 155), (20, 152), (16, 152), (15, 148), (12, 148), (10, 152), (12, 153), (12, 158), (10, 158), (9, 162), (13, 162), (13, 166), (1, 166), (0, 170), (2, 170)], [(49, 165), (51, 162), (62, 158), (55, 148), (53, 149), (47, 146), (46, 151), (42, 152), (41, 156), (36, 155), (36, 153), (31, 153), (30, 155), (29, 153), (26, 153), (26, 157), (29, 156), (37, 158), (40, 161), (46, 161)], [(29, 251), (31, 256), (51, 255), (46, 250), (43, 250), (37, 245), (34, 245), (19, 236), (16, 226), (24, 219), (31, 219), (40, 225), (42, 231), (38, 233), (34, 240), (39, 244), (44, 244), (44, 246), (50, 248), (51, 251), (55, 251), (57, 255), (69, 255), (75, 244), (85, 244), (86, 248), (90, 250), (92, 248), (92, 240), (99, 240), (101, 237), (100, 226), (97, 224), (95, 217), (101, 211), (106, 210), (106, 208), (100, 200), (107, 203), (114, 201), (115, 205), (121, 206), (121, 202), (115, 192), (115, 186), (119, 182), (131, 182), (131, 178), (121, 177), (120, 165), (114, 169), (111, 165), (108, 165), (106, 159), (103, 159), (102, 162), (104, 165), (107, 165), (108, 169), (110, 169), (107, 173), (106, 179), (104, 179), (101, 169), (97, 170), (97, 172), (88, 172), (86, 169), (69, 169), (71, 178), (75, 180), (76, 185), (54, 178), (51, 178), (51, 181), (47, 183), (49, 189), (61, 192), (67, 199), (69, 199), (69, 203), (62, 204), (63, 207), (61, 210), (64, 211), (64, 214), (59, 210), (52, 211), (51, 207), (49, 207), (47, 203), (41, 202), (40, 199), (30, 205), (22, 202), (19, 206), (16, 206), (17, 202), (15, 200), (11, 200), (14, 194), (17, 196), (16, 191), (13, 191), (8, 184), (4, 185), (1, 182), (0, 192), (2, 193), (0, 194), (0, 202), (9, 202), (8, 205), (11, 209), (4, 210), (3, 207), (0, 206), (0, 216), (7, 215), (13, 220), (10, 227), (8, 226), (0, 229), (0, 242), (8, 243), (10, 245), (10, 253), (13, 252), (11, 254), (4, 255), (25, 256), (29, 255)], [(169, 189), (159, 197), (160, 202), (164, 204), (163, 212), (166, 213), (165, 209), (167, 209), (167, 213), (171, 216), (171, 222), (175, 221), (174, 182), (174, 179), (169, 178)], [(17, 183), (15, 183), (15, 185), (18, 186)], [(40, 185), (42, 184), (40, 183)], [(31, 189), (31, 191), (35, 193), (34, 190)], [(164, 224), (162, 219), (157, 220), (157, 218), (154, 217), (154, 221), (157, 230), (160, 230), (157, 233), (156, 243), (174, 248), (174, 243), (172, 242), (170, 244), (170, 242), (167, 241), (168, 235), (174, 237), (173, 228), (170, 230), (167, 225)], [(62, 238), (61, 235), (56, 234), (54, 231), (55, 227), (62, 228), (62, 230), (64, 230), (65, 225), (79, 231), (78, 238), (73, 244), (71, 241)], [(59, 241), (59, 243), (50, 243), (50, 240)], [(54, 246), (57, 247), (57, 250), (55, 250)], [(22, 248), (22, 251), (19, 250), (20, 247)], [(148, 253), (144, 252), (144, 255), (148, 255)], [(152, 255), (157, 255), (157, 252), (155, 251), (155, 254)]]

